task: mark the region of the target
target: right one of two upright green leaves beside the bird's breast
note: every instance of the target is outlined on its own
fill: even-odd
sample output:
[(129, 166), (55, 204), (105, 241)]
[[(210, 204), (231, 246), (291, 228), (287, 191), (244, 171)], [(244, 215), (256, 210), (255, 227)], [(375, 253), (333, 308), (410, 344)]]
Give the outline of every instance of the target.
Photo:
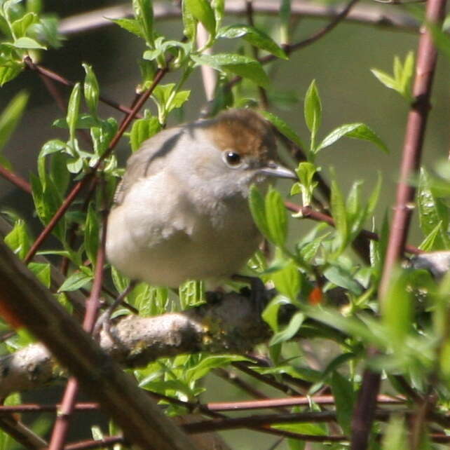
[(270, 186), (264, 204), (270, 239), (276, 245), (283, 247), (287, 238), (287, 212), (281, 194)]

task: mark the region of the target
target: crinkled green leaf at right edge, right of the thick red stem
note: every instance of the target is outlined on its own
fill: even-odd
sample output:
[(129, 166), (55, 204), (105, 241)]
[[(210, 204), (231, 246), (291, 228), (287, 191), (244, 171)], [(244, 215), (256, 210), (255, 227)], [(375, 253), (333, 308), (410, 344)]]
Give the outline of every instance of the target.
[(417, 203), (419, 224), (425, 236), (434, 232), (437, 225), (442, 222), (439, 234), (435, 237), (432, 250), (446, 250), (450, 247), (450, 238), (447, 234), (449, 227), (449, 210), (446, 204), (435, 196), (432, 190), (432, 180), (428, 172), (421, 168), (418, 182)]

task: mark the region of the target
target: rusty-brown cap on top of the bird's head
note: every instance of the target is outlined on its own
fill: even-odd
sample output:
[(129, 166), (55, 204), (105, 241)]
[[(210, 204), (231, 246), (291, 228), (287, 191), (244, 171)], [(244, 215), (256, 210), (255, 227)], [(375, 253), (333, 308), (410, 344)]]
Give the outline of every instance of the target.
[(208, 121), (208, 132), (218, 149), (233, 149), (242, 156), (276, 160), (271, 124), (252, 109), (228, 109)]

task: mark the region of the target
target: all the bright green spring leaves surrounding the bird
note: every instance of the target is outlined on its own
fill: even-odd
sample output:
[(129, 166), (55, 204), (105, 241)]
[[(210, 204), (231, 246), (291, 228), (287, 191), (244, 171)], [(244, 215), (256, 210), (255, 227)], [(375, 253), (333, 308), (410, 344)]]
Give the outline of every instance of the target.
[[(168, 118), (182, 111), (191, 93), (186, 82), (203, 65), (219, 72), (213, 111), (258, 104), (258, 93), (271, 85), (268, 72), (255, 54), (265, 52), (286, 60), (286, 49), (270, 33), (256, 26), (224, 25), (224, 3), (223, 0), (183, 1), (184, 39), (180, 41), (161, 36), (156, 31), (150, 0), (132, 0), (133, 17), (113, 20), (143, 43), (139, 92), (153, 89), (158, 71), (171, 71), (175, 80), (159, 83), (152, 90), (151, 100), (156, 106), (156, 114), (149, 107), (143, 111), (142, 118), (132, 123), (128, 135), (131, 151), (136, 151), (145, 139), (165, 128)], [(0, 0), (0, 30), (3, 34), (0, 86), (20, 76), (27, 58), (37, 62), (43, 50), (60, 46), (57, 22), (42, 10), (41, 2), (36, 0)], [(282, 1), (280, 18), (276, 19), (282, 29), (282, 42), (289, 37), (290, 15), (290, 2)], [(198, 24), (203, 25), (207, 32), (207, 41), (201, 46), (196, 39)], [(439, 30), (434, 30), (434, 34), (439, 46), (447, 45), (446, 34)], [(213, 51), (214, 44), (221, 40), (237, 42), (236, 53)], [(257, 48), (257, 52), (252, 53), (252, 48)], [(55, 137), (43, 144), (36, 170), (30, 175), (36, 215), (46, 226), (63, 204), (72, 183), (90, 177), (93, 171), (97, 174), (97, 189), (93, 195), (85, 201), (84, 207), (81, 202), (69, 207), (53, 229), (54, 248), (40, 252), (49, 254), (54, 260), (66, 259), (69, 263), (69, 275), (58, 290), (58, 299), (66, 307), (62, 293), (89, 289), (94, 281), (102, 229), (99, 212), (111, 204), (118, 180), (123, 175), (112, 151), (120, 125), (115, 118), (102, 116), (99, 111), (100, 83), (93, 67), (83, 63), (83, 69), (85, 77), (71, 89), (67, 112), (53, 123), (64, 130), (66, 137)], [(379, 69), (371, 71), (383, 85), (411, 102), (413, 69), (414, 56), (410, 52), (403, 63), (395, 57), (392, 76)], [(243, 79), (243, 86), (231, 86), (236, 77)], [(0, 150), (5, 148), (26, 104), (27, 94), (21, 91), (0, 114)], [(299, 123), (287, 123), (271, 111), (261, 113), (280, 135), (305, 153), (304, 161), (299, 161), (296, 167), (299, 179), (291, 186), (292, 199), (299, 200), (304, 207), (321, 212), (329, 210), (334, 221), (334, 227), (322, 223), (313, 227), (306, 236), (292, 236), (289, 233), (292, 221), (304, 219), (301, 207), (298, 212), (289, 214), (280, 191), (271, 187), (262, 193), (252, 186), (249, 205), (254, 222), (275, 249), (273, 259), (266, 259), (259, 252), (249, 262), (252, 271), (273, 285), (277, 292), (262, 312), (262, 318), (273, 331), (270, 341), (261, 348), (268, 366), (257, 364), (246, 355), (200, 353), (160, 358), (144, 369), (133, 371), (142, 388), (184, 402), (197, 402), (205, 392), (205, 377), (211, 371), (245, 362), (253, 371), (273, 381), (290, 380), (308, 386), (306, 393), (311, 395), (311, 401), (301, 411), (320, 411), (313, 395), (322, 388), (331, 390), (336, 421), (343, 434), (350, 435), (362, 369), (368, 367), (386, 375), (386, 386), (383, 387), (386, 392), (410, 396), (412, 390), (418, 397), (426, 397), (432, 392), (439, 412), (448, 412), (450, 276), (435, 280), (423, 269), (414, 268), (414, 264), (397, 267), (386, 293), (379, 297), (379, 282), (388, 245), (388, 222), (379, 226), (379, 240), (372, 241), (370, 247), (367, 245), (367, 261), (358, 259), (353, 250), (364, 228), (372, 226), (381, 175), (369, 196), (364, 197), (361, 181), (354, 181), (348, 193), (344, 193), (333, 170), (329, 170), (331, 193), (325, 202), (329, 204), (327, 210), (326, 205), (318, 202), (319, 176), (325, 172), (325, 163), (318, 165), (318, 158), (322, 150), (334, 149), (334, 144), (343, 137), (358, 139), (361, 145), (375, 151), (388, 153), (388, 147), (369, 125), (362, 122), (344, 123), (320, 137), (325, 106), (318, 84), (311, 81), (304, 94), (304, 123), (308, 136), (300, 136), (296, 131), (300, 128)], [(88, 132), (92, 145), (80, 139), (81, 132)], [(308, 144), (305, 146), (304, 142)], [(12, 169), (4, 154), (0, 154), (0, 164)], [(417, 209), (423, 232), (421, 247), (425, 250), (449, 250), (449, 181), (448, 165), (442, 165), (437, 175), (422, 168), (418, 176)], [(34, 238), (23, 219), (14, 214), (10, 219), (13, 228), (5, 242), (20, 259), (25, 259)], [(72, 230), (77, 230), (77, 244), (71, 239)], [(50, 264), (32, 262), (29, 268), (44, 285), (50, 286)], [(111, 286), (116, 292), (123, 292), (130, 280), (109, 265), (106, 268)], [(200, 280), (188, 281), (180, 287), (179, 296), (175, 296), (166, 287), (139, 283), (128, 294), (127, 301), (142, 315), (159, 315), (203, 304), (204, 289)], [(336, 292), (340, 295), (337, 304), (334, 302)], [(281, 313), (285, 309), (291, 312), (287, 320)], [(128, 313), (128, 310), (121, 309), (115, 315)], [(2, 323), (1, 329), (8, 329), (8, 325)], [(336, 348), (325, 369), (311, 366), (299, 348), (292, 346), (292, 341), (299, 336), (320, 339), (325, 345)], [(25, 345), (25, 341), (23, 336), (15, 336), (8, 339), (2, 349), (6, 353)], [(376, 356), (369, 358), (368, 349), (375, 349)], [(405, 384), (410, 390), (404, 389)], [(299, 408), (293, 411), (297, 412)], [(170, 403), (167, 412), (175, 415), (186, 411), (175, 402)], [(273, 428), (315, 437), (328, 435), (333, 429), (319, 422), (279, 424)], [(372, 430), (372, 448), (403, 448), (407, 431), (402, 416), (390, 418), (386, 430), (382, 430), (378, 423)], [(94, 427), (93, 435), (100, 438), (103, 432)], [(380, 435), (383, 439), (378, 444)], [(324, 442), (320, 448), (338, 448)], [(303, 443), (290, 439), (289, 446), (302, 448)], [(5, 450), (14, 448), (3, 432), (0, 433), (0, 447)], [(435, 447), (430, 444), (427, 448)]]

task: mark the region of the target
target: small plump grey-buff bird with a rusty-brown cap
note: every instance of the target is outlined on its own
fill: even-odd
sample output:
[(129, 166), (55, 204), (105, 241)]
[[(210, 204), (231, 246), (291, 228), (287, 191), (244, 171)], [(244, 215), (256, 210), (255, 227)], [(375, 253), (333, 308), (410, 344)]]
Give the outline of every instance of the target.
[(277, 159), (271, 125), (250, 109), (159, 132), (128, 160), (108, 218), (107, 258), (156, 286), (238, 273), (261, 243), (250, 185), (296, 179)]

